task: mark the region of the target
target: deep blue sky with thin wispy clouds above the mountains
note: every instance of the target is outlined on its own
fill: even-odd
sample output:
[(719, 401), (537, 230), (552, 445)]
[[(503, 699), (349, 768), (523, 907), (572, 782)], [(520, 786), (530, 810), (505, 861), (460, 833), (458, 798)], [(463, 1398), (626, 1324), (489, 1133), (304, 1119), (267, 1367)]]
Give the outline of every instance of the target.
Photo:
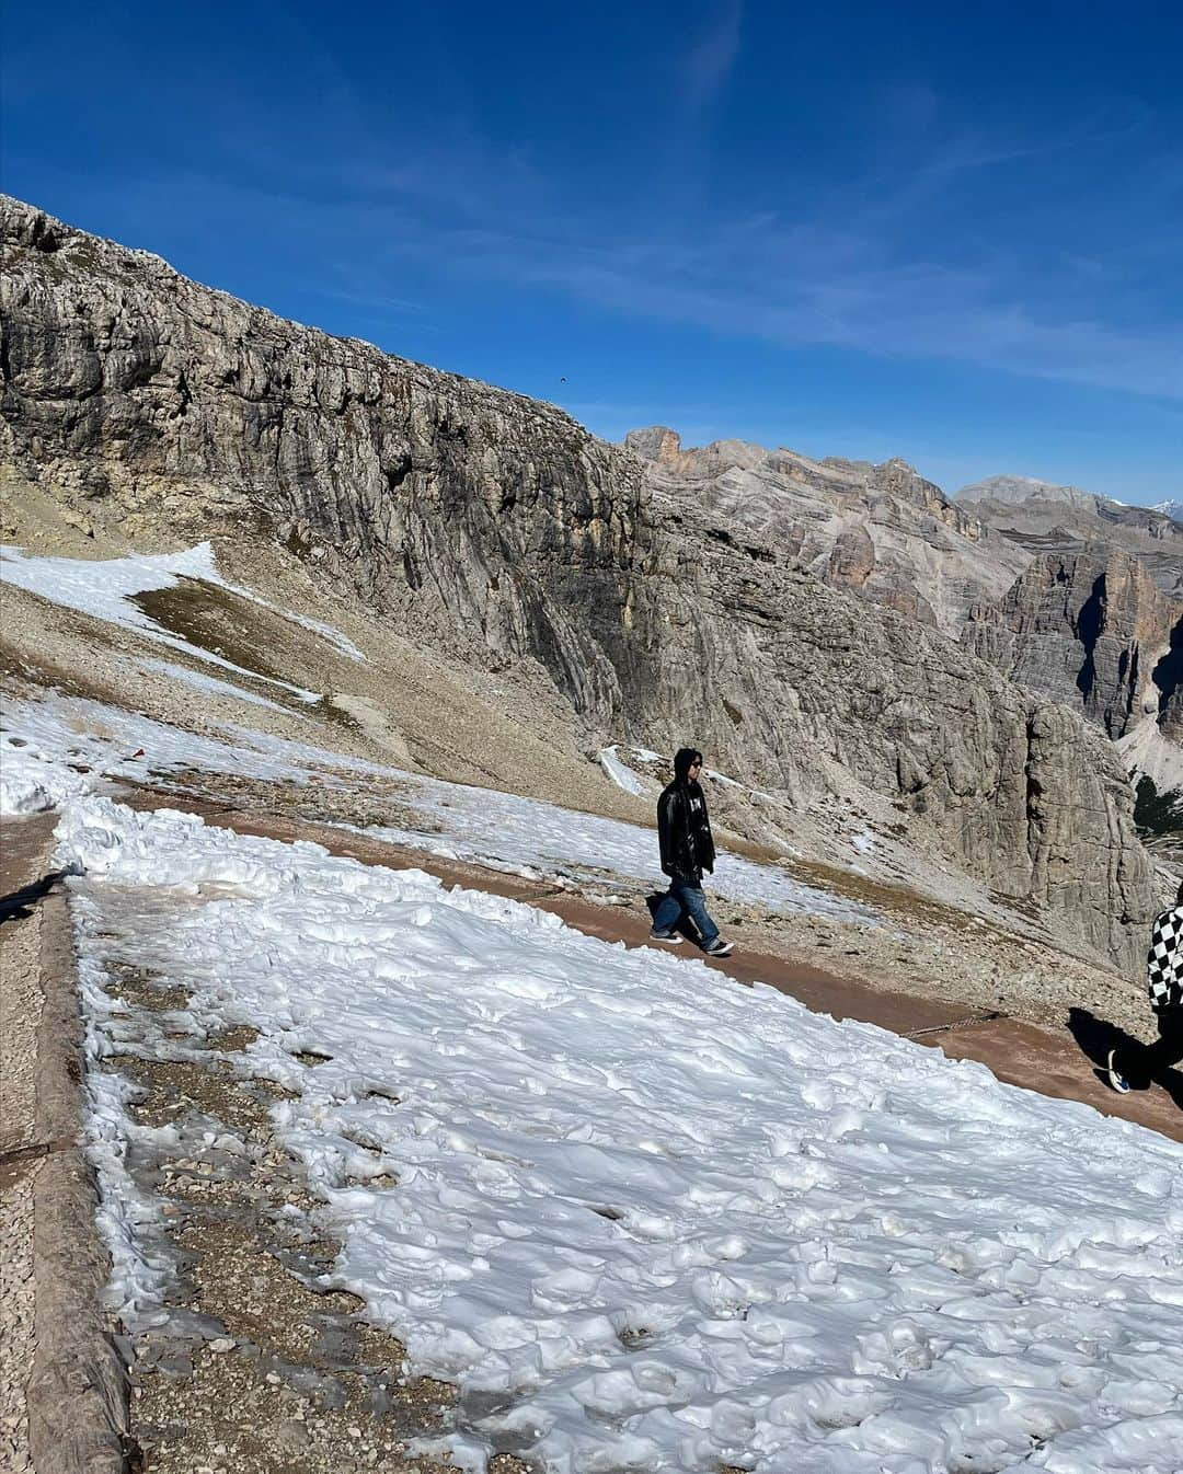
[(1183, 494), (1176, 3), (62, 0), (4, 40), (9, 193), (286, 317), (614, 439)]

